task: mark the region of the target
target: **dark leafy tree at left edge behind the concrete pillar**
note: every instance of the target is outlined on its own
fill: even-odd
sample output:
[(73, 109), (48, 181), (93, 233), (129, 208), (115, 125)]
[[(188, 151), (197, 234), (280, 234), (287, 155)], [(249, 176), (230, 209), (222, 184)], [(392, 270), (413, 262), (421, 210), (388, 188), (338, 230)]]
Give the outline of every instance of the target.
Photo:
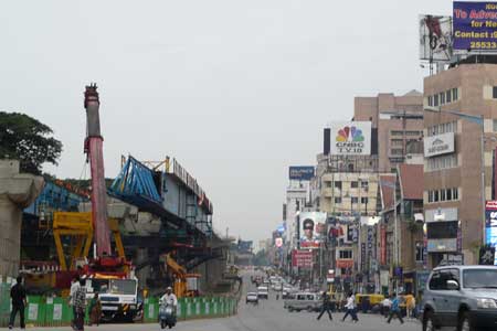
[(45, 162), (57, 164), (62, 142), (52, 129), (20, 113), (0, 111), (0, 159), (20, 160), (21, 171), (41, 174)]

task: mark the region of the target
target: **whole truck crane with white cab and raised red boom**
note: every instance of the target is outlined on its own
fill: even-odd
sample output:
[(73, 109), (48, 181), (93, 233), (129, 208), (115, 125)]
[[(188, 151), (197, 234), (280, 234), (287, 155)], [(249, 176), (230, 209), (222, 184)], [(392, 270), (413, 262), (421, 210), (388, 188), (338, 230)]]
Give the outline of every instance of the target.
[(86, 86), (84, 96), (87, 132), (84, 150), (92, 173), (92, 225), (96, 246), (96, 258), (89, 259), (84, 266), (87, 297), (99, 293), (104, 320), (121, 317), (133, 321), (139, 311), (138, 281), (130, 270), (131, 264), (126, 260), (121, 244), (116, 243), (117, 255), (112, 252), (104, 173), (104, 138), (99, 120), (101, 102), (96, 84)]

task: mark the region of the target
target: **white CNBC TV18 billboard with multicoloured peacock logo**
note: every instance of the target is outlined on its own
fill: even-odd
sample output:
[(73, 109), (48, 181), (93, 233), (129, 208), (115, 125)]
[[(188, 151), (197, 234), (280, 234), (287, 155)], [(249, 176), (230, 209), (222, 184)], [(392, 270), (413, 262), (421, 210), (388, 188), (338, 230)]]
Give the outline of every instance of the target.
[(334, 156), (371, 154), (371, 122), (341, 121), (330, 124), (330, 150)]

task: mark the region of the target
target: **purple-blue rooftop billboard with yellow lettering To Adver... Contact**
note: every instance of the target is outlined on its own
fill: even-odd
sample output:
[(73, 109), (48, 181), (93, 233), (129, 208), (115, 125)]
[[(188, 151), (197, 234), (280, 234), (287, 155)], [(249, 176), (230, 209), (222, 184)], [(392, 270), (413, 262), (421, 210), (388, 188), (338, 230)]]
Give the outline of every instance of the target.
[(497, 3), (454, 1), (454, 51), (497, 52)]

